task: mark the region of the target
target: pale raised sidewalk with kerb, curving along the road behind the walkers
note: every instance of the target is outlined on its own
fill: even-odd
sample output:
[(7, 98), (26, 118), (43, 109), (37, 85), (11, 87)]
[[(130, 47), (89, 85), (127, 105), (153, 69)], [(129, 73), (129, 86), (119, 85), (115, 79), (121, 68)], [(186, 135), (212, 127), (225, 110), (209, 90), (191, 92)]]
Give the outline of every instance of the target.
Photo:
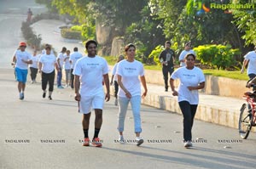
[[(64, 25), (60, 20), (40, 20), (33, 24), (33, 31), (41, 34), (42, 43), (52, 44), (56, 51), (61, 51), (62, 47), (73, 51), (74, 47), (79, 48), (79, 52), (84, 54), (84, 46), (79, 42), (67, 42), (61, 37), (59, 27)], [(142, 103), (162, 110), (172, 111), (181, 114), (177, 104), (177, 97), (172, 97), (172, 93), (165, 92), (163, 86), (147, 84), (148, 96)], [(111, 88), (113, 94), (113, 87)], [(242, 93), (241, 93), (242, 95)], [(238, 127), (238, 119), (243, 99), (229, 97), (219, 97), (216, 95), (200, 94), (200, 104), (195, 115), (196, 119), (224, 125), (226, 127)]]

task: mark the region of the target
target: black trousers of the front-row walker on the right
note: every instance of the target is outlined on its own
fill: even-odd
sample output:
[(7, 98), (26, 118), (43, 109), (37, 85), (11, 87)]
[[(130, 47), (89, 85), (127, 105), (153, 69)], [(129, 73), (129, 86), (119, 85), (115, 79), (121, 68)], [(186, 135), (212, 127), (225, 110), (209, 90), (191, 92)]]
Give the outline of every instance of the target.
[(197, 104), (189, 104), (188, 101), (178, 102), (180, 109), (183, 112), (183, 138), (184, 141), (191, 141), (192, 127), (197, 109)]

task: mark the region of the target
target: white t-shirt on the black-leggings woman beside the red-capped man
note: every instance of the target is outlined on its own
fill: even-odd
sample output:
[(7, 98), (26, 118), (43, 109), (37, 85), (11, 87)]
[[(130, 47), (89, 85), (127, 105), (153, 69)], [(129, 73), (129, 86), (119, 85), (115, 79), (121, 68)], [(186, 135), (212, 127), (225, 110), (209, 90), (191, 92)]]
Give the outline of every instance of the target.
[(53, 54), (43, 54), (40, 57), (39, 62), (42, 63), (42, 71), (44, 73), (51, 73), (55, 70), (55, 63), (57, 63), (57, 60)]

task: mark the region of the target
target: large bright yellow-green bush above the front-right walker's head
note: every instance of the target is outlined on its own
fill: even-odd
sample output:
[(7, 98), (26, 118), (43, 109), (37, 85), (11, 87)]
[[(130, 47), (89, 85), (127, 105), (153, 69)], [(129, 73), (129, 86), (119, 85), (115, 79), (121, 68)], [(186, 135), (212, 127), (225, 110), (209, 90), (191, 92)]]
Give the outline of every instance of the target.
[(196, 59), (199, 59), (202, 64), (217, 67), (218, 70), (236, 65), (234, 57), (239, 54), (238, 49), (231, 49), (230, 46), (224, 45), (203, 45), (194, 50)]

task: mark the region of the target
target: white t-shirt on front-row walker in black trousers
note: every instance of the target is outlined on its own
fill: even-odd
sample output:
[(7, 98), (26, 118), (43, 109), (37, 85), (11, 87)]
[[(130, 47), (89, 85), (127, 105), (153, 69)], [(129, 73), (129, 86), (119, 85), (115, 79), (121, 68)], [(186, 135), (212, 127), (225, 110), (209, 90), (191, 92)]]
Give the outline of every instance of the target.
[(198, 90), (189, 91), (188, 87), (196, 87), (199, 83), (205, 82), (205, 76), (201, 69), (194, 67), (192, 70), (180, 67), (172, 73), (172, 79), (179, 79), (177, 88), (178, 102), (188, 101), (189, 104), (198, 104)]

